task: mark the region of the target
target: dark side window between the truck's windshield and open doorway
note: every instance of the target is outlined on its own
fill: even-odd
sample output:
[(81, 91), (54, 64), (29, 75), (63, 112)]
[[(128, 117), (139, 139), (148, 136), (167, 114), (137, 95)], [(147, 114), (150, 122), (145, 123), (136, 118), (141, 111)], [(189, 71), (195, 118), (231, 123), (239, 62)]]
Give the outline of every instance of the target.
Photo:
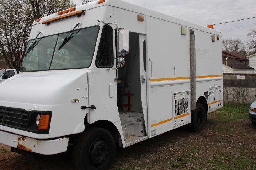
[(113, 29), (105, 25), (102, 29), (101, 40), (96, 56), (96, 66), (100, 68), (111, 68), (114, 64), (113, 51)]

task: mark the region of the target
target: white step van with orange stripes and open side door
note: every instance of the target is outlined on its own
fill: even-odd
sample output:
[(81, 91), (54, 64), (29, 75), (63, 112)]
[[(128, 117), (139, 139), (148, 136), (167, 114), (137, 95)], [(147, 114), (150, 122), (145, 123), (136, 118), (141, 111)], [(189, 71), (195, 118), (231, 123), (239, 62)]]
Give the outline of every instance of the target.
[(222, 34), (121, 0), (37, 19), (20, 74), (0, 84), (0, 143), (44, 155), (73, 146), (105, 170), (128, 147), (222, 107)]

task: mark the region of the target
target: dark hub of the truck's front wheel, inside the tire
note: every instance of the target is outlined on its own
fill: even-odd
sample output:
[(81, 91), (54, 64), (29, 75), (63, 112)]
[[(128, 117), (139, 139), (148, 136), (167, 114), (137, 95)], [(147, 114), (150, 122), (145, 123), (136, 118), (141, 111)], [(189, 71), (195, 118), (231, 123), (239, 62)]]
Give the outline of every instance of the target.
[(93, 166), (102, 166), (108, 158), (108, 147), (105, 141), (97, 140), (90, 148), (90, 163)]

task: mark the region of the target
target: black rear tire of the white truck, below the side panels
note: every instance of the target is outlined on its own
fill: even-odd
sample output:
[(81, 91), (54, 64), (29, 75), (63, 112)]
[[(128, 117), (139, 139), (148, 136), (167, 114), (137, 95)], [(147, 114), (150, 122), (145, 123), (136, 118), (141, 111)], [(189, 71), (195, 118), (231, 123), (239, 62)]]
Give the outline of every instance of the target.
[(206, 121), (206, 111), (202, 104), (197, 103), (197, 108), (191, 113), (191, 123), (188, 124), (188, 130), (200, 132)]

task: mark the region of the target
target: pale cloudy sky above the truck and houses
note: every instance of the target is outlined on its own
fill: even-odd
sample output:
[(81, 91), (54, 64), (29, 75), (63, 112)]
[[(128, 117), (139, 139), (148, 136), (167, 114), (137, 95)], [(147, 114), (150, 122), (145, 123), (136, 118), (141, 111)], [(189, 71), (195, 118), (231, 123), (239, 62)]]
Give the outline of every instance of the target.
[[(187, 21), (201, 24), (217, 24), (238, 19), (256, 17), (255, 0), (124, 0)], [(77, 5), (81, 0), (74, 0)], [(256, 18), (216, 25), (223, 38), (240, 38), (256, 28)]]

